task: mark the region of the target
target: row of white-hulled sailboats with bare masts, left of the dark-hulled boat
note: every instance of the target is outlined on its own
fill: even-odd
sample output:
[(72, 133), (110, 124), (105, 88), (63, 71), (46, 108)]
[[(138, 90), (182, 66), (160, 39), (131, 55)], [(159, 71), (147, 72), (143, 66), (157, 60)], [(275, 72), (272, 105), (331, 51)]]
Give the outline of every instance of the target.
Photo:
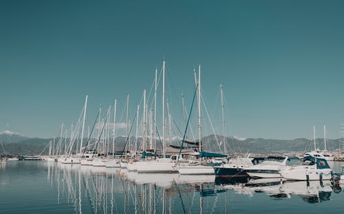
[[(127, 121), (126, 121), (126, 130), (125, 136), (127, 138), (125, 142), (125, 148), (122, 153), (116, 156), (115, 151), (115, 138), (116, 138), (116, 105), (117, 100), (115, 100), (114, 105), (114, 123), (112, 127), (112, 138), (109, 136), (111, 132), (109, 130), (111, 107), (107, 110), (105, 119), (102, 119), (101, 107), (96, 117), (94, 126), (96, 125), (98, 129), (98, 136), (92, 138), (92, 133), (94, 127), (92, 127), (91, 133), (88, 134), (87, 142), (84, 142), (84, 133), (85, 133), (85, 116), (87, 111), (87, 96), (85, 98), (85, 105), (83, 107), (82, 114), (80, 114), (79, 120), (76, 123), (76, 127), (72, 127), (69, 144), (67, 144), (67, 131), (65, 133), (65, 138), (63, 138), (63, 125), (61, 126), (61, 136), (59, 141), (59, 146), (56, 147), (56, 153), (60, 154), (57, 159), (58, 162), (63, 164), (81, 164), (81, 165), (92, 165), (94, 167), (121, 167), (127, 168), (128, 171), (138, 171), (138, 173), (181, 173), (186, 175), (208, 175), (214, 174), (214, 169), (212, 166), (206, 165), (203, 160), (204, 157), (208, 158), (209, 154), (202, 151), (202, 123), (201, 123), (201, 69), (200, 65), (198, 67), (198, 78), (195, 72), (195, 96), (197, 95), (197, 118), (198, 118), (198, 133), (199, 140), (198, 142), (189, 142), (194, 145), (193, 149), (183, 149), (183, 147), (166, 147), (166, 110), (165, 103), (167, 103), (167, 113), (169, 118), (169, 136), (171, 139), (171, 114), (169, 110), (169, 102), (165, 99), (165, 61), (162, 63), (162, 151), (160, 155), (157, 153), (156, 149), (156, 140), (158, 133), (156, 126), (156, 109), (157, 109), (157, 90), (158, 90), (158, 71), (155, 69), (155, 89), (154, 89), (154, 113), (153, 108), (148, 108), (147, 98), (146, 98), (146, 89), (143, 93), (143, 114), (142, 114), (142, 136), (141, 136), (141, 145), (138, 146), (138, 114), (140, 105), (138, 105), (138, 110), (134, 121), (129, 125), (129, 95), (127, 96)], [(195, 98), (194, 98), (195, 99)], [(184, 102), (184, 100), (183, 100)], [(223, 99), (222, 99), (223, 102)], [(223, 107), (223, 103), (222, 103)], [(184, 107), (183, 107), (184, 108)], [(192, 109), (192, 107), (191, 107)], [(183, 109), (184, 111), (184, 109)], [(191, 112), (190, 112), (191, 114)], [(189, 114), (189, 116), (190, 116)], [(224, 111), (222, 109), (222, 114)], [(136, 120), (136, 137), (133, 145), (131, 145), (131, 131), (133, 124)], [(224, 120), (223, 120), (224, 123)], [(129, 126), (128, 126), (129, 125)], [(130, 129), (129, 129), (130, 127)], [(149, 127), (149, 128), (148, 128)], [(186, 127), (187, 129), (187, 127)], [(76, 145), (76, 139), (78, 138), (78, 131), (81, 131), (80, 144)], [(147, 142), (147, 133), (149, 134), (149, 146)], [(186, 133), (186, 132), (185, 132)], [(159, 136), (160, 138), (160, 136)], [(185, 138), (185, 136), (184, 136)], [(63, 142), (63, 139), (65, 142)], [(112, 152), (109, 147), (110, 140), (112, 139)], [(91, 141), (94, 141), (91, 143)], [(154, 142), (153, 142), (154, 141)], [(187, 142), (183, 139), (182, 144)], [(64, 146), (63, 146), (64, 143)], [(198, 146), (195, 149), (195, 146)], [(93, 149), (92, 149), (93, 146)], [(178, 149), (177, 149), (178, 148)], [(64, 149), (64, 152), (61, 151)], [(74, 149), (74, 151), (73, 151)], [(166, 156), (166, 149), (179, 151), (179, 153), (171, 154)], [(78, 151), (78, 152), (75, 152)], [(182, 151), (182, 152), (181, 152)], [(224, 151), (226, 151), (226, 143), (224, 142)], [(204, 155), (205, 154), (205, 155)], [(140, 156), (142, 155), (142, 158)], [(189, 156), (189, 159), (186, 160), (185, 157)], [(211, 156), (217, 157), (217, 156)], [(222, 157), (226, 157), (223, 156)]]

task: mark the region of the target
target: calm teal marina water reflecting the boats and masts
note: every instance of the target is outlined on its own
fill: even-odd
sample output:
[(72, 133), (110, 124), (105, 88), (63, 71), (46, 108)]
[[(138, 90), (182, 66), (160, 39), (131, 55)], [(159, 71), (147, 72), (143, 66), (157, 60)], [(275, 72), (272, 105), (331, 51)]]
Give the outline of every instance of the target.
[[(339, 164), (335, 163), (334, 168)], [(219, 181), (13, 161), (0, 168), (0, 213), (343, 213), (329, 182)]]

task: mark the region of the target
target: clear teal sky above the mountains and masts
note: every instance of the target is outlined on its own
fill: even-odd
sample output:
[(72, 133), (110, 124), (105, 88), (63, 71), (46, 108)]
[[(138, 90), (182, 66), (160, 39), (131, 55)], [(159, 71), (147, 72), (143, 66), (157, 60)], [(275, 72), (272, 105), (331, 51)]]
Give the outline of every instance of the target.
[[(182, 94), (190, 111), (201, 65), (204, 135), (223, 133), (223, 84), (226, 136), (311, 139), (315, 125), (322, 138), (325, 125), (341, 137), (344, 1), (2, 0), (0, 29), (0, 131), (58, 136), (86, 94), (88, 126), (115, 99), (126, 122), (127, 94), (133, 120), (164, 60), (180, 133)], [(161, 126), (161, 81), (157, 102)]]

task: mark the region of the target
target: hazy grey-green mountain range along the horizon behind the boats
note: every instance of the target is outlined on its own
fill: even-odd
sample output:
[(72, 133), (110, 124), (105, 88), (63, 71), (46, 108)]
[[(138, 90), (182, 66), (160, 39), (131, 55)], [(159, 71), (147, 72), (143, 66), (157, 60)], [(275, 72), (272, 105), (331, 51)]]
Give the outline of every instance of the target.
[[(11, 155), (45, 155), (48, 153), (49, 142), (53, 139), (43, 138), (28, 138), (20, 133), (12, 133), (10, 131), (3, 131), (0, 133), (0, 154), (7, 153)], [(226, 153), (292, 153), (314, 150), (314, 140), (306, 138), (298, 138), (294, 140), (275, 140), (264, 138), (237, 138), (227, 137), (226, 140)], [(56, 144), (59, 139), (56, 139)], [(84, 140), (84, 144), (87, 140)], [(96, 141), (96, 140), (93, 140)], [(141, 138), (137, 142), (140, 144)], [(69, 139), (63, 139), (63, 142), (69, 142)], [(117, 151), (123, 151), (125, 142), (133, 145), (134, 138), (128, 140), (124, 136), (119, 136), (115, 140), (115, 147)], [(181, 140), (166, 140), (166, 145), (180, 145)], [(327, 139), (327, 150), (337, 151), (342, 147), (344, 138)], [(202, 145), (204, 151), (211, 151), (217, 153), (224, 152), (224, 137), (211, 135), (202, 138)], [(187, 147), (187, 145), (183, 145)], [(316, 147), (323, 150), (325, 149), (324, 141), (321, 138), (316, 138)], [(162, 149), (161, 143), (157, 143), (157, 148)]]

